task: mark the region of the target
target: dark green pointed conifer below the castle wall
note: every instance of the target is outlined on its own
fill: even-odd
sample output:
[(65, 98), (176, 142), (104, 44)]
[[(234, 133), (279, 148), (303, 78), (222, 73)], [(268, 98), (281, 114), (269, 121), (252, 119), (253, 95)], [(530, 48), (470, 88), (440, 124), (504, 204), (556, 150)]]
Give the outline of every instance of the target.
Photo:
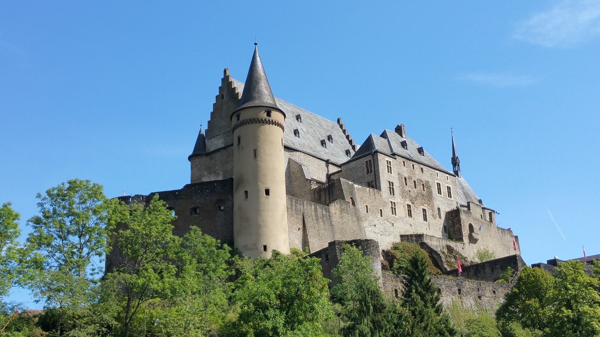
[(427, 261), (416, 252), (404, 274), (403, 306), (412, 314), (412, 336), (454, 336), (449, 315), (442, 312), (439, 288), (428, 276)]

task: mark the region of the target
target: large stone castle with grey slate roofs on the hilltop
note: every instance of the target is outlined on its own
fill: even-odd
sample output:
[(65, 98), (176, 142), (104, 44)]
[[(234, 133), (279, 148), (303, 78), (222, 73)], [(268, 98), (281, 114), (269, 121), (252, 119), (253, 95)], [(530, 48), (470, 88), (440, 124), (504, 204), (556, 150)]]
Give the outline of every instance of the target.
[[(439, 276), (443, 300), (468, 295), (494, 306), (508, 287), (491, 282), (506, 266), (524, 265), (518, 237), (497, 227), (496, 212), (462, 176), (454, 137), (446, 170), (409, 134), (400, 124), (358, 145), (341, 118), (275, 98), (255, 47), (244, 83), (224, 70), (208, 127), (188, 157), (190, 183), (151, 195), (178, 216), (175, 234), (196, 225), (252, 258), (302, 249), (322, 258), (326, 276), (344, 241), (359, 243), (379, 275), (382, 250), (394, 242), (417, 243), (448, 275), (459, 256), (466, 277)], [(482, 249), (497, 260), (476, 263)], [(397, 296), (400, 281), (384, 273), (382, 287)]]

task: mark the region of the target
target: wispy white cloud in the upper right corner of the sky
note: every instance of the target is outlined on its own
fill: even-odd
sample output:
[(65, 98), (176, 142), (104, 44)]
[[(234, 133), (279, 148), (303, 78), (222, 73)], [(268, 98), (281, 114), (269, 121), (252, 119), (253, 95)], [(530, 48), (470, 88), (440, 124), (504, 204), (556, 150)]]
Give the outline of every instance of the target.
[(517, 23), (513, 37), (546, 47), (570, 47), (600, 35), (600, 0), (563, 0)]

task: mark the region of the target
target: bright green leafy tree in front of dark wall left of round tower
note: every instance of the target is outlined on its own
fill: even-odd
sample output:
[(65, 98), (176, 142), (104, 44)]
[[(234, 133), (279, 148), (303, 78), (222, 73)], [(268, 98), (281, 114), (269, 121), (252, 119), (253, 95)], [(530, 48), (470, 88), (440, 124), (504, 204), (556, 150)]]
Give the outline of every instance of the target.
[(122, 333), (129, 335), (140, 306), (152, 299), (170, 297), (176, 284), (175, 264), (179, 238), (173, 235), (175, 219), (164, 201), (154, 195), (147, 206), (112, 203), (109, 220), (118, 228), (110, 236), (122, 261), (112, 266), (103, 282), (103, 302), (119, 306)]

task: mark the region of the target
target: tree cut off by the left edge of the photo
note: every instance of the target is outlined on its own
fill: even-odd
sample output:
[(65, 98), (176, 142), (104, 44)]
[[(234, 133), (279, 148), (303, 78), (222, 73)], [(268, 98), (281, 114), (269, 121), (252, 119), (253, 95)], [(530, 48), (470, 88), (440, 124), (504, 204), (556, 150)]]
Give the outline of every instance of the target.
[(8, 291), (17, 284), (23, 273), (23, 249), (17, 241), (19, 230), (19, 213), (15, 212), (11, 203), (0, 207), (0, 296), (7, 296)]

